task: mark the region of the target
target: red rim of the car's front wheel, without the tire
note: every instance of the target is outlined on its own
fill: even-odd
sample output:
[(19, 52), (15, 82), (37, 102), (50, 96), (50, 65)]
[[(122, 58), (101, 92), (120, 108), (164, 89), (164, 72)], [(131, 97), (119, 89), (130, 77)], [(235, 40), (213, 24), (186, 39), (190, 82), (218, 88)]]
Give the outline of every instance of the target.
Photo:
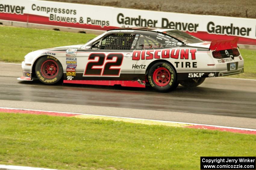
[(42, 63), (41, 66), (41, 73), (49, 79), (54, 78), (57, 76), (59, 72), (58, 64), (53, 60), (46, 60), (44, 63)]

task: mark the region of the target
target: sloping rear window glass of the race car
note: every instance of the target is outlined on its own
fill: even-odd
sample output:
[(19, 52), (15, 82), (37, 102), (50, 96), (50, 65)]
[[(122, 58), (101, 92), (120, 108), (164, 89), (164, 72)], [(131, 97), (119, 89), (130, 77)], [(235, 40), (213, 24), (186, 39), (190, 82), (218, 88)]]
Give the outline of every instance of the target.
[(189, 43), (189, 44), (193, 44), (193, 43), (200, 43), (200, 42), (204, 42), (201, 39), (198, 39), (186, 32), (182, 32), (179, 30), (170, 30), (170, 31), (164, 31), (163, 33), (168, 34), (184, 43)]

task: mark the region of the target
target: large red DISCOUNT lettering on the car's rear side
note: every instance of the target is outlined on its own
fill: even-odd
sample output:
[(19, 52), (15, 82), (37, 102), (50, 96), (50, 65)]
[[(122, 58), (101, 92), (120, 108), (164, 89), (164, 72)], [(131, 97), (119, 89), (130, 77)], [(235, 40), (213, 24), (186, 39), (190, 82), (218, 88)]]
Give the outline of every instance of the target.
[(133, 60), (152, 60), (152, 59), (184, 59), (195, 60), (197, 49), (156, 49), (156, 50), (134, 50)]

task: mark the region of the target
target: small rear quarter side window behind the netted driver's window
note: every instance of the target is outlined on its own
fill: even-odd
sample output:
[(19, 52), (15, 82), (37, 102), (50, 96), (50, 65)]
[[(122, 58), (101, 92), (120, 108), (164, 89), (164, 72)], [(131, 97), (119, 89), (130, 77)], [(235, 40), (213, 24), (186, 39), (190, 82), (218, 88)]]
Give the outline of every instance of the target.
[(153, 48), (162, 48), (163, 45), (161, 42), (157, 41), (156, 39), (140, 35), (139, 41), (136, 45), (136, 49), (153, 49)]

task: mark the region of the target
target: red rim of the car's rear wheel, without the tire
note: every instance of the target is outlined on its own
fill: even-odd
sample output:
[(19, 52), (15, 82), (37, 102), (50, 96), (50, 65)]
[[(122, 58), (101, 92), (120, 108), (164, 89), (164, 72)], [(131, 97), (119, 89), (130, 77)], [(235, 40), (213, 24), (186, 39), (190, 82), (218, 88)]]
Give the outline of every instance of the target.
[(153, 81), (158, 86), (166, 86), (171, 80), (170, 71), (164, 67), (157, 68), (153, 73)]

